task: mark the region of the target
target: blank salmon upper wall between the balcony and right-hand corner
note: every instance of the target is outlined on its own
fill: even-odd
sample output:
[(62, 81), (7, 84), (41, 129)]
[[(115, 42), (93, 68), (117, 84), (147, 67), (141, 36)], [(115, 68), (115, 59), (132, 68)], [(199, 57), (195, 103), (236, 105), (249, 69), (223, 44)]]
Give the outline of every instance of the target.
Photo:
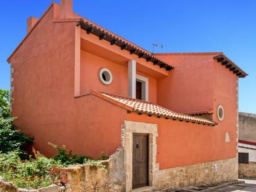
[(175, 67), (157, 82), (157, 104), (176, 112), (213, 109), (213, 55), (156, 55)]

